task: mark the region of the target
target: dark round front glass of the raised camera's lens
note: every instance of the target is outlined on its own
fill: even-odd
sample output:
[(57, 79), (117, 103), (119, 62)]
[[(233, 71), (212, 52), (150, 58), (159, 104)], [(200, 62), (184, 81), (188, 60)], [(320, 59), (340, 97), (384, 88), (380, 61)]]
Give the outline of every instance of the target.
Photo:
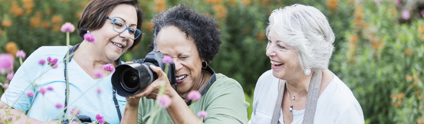
[(137, 91), (139, 89), (139, 76), (137, 70), (128, 68), (121, 75), (121, 85), (128, 91)]

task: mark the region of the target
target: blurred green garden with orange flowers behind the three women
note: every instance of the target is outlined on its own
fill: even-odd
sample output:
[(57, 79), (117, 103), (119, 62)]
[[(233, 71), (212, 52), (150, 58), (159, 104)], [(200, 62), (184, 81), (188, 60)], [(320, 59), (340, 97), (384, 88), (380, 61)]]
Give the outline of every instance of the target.
[[(76, 26), (88, 2), (0, 0), (0, 53), (23, 50), (29, 56), (41, 46), (64, 46), (61, 25)], [(144, 36), (123, 61), (145, 57), (152, 40), (151, 18), (178, 3), (216, 19), (223, 44), (210, 65), (237, 80), (251, 105), (257, 79), (271, 69), (265, 55), (268, 17), (276, 8), (300, 3), (328, 18), (337, 36), (329, 69), (349, 86), (366, 124), (424, 123), (423, 0), (140, 0)], [(82, 41), (76, 31), (70, 37), (71, 45)], [(16, 58), (14, 70), (19, 66)], [(0, 82), (4, 80), (6, 75), (0, 75)]]

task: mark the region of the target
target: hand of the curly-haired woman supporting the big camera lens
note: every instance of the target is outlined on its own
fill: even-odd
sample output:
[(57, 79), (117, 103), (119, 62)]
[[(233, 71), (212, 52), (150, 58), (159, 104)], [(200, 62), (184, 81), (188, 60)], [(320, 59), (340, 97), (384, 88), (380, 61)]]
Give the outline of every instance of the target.
[(131, 96), (131, 98), (141, 98), (146, 96), (146, 98), (148, 99), (156, 99), (156, 96), (158, 95), (159, 89), (162, 84), (165, 84), (164, 94), (167, 94), (170, 98), (172, 98), (174, 94), (176, 94), (176, 91), (170, 85), (165, 72), (163, 72), (162, 69), (158, 66), (150, 66), (150, 69), (152, 69), (152, 71), (158, 75), (158, 79), (154, 80), (149, 86), (147, 86), (147, 88), (145, 88), (144, 91), (134, 96)]

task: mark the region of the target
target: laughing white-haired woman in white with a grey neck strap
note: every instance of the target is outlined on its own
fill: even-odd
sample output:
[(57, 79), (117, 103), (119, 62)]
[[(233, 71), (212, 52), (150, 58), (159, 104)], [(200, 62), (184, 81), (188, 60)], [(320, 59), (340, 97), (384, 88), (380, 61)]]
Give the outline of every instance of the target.
[(266, 29), (271, 70), (254, 92), (249, 124), (363, 124), (351, 90), (328, 68), (335, 35), (312, 6), (276, 9)]

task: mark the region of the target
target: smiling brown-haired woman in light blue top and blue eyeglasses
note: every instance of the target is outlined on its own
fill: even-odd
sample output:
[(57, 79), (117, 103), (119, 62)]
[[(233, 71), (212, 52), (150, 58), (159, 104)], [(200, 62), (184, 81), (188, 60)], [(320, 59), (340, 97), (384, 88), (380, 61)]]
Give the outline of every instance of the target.
[[(139, 44), (143, 13), (138, 6), (138, 0), (91, 0), (78, 22), (78, 34), (83, 41), (74, 46), (44, 46), (34, 51), (1, 97), (0, 115), (19, 116), (11, 118), (15, 122), (57, 124), (79, 114), (88, 116), (90, 121), (119, 124), (126, 99), (114, 92), (110, 80), (113, 70), (100, 77), (96, 72), (108, 63), (122, 64), (120, 56)], [(84, 40), (86, 33), (94, 36), (95, 41)], [(64, 63), (68, 51), (72, 56)], [(57, 65), (53, 69), (40, 65), (39, 61), (46, 58), (57, 58)], [(5, 115), (5, 107), (12, 108), (10, 115)]]

